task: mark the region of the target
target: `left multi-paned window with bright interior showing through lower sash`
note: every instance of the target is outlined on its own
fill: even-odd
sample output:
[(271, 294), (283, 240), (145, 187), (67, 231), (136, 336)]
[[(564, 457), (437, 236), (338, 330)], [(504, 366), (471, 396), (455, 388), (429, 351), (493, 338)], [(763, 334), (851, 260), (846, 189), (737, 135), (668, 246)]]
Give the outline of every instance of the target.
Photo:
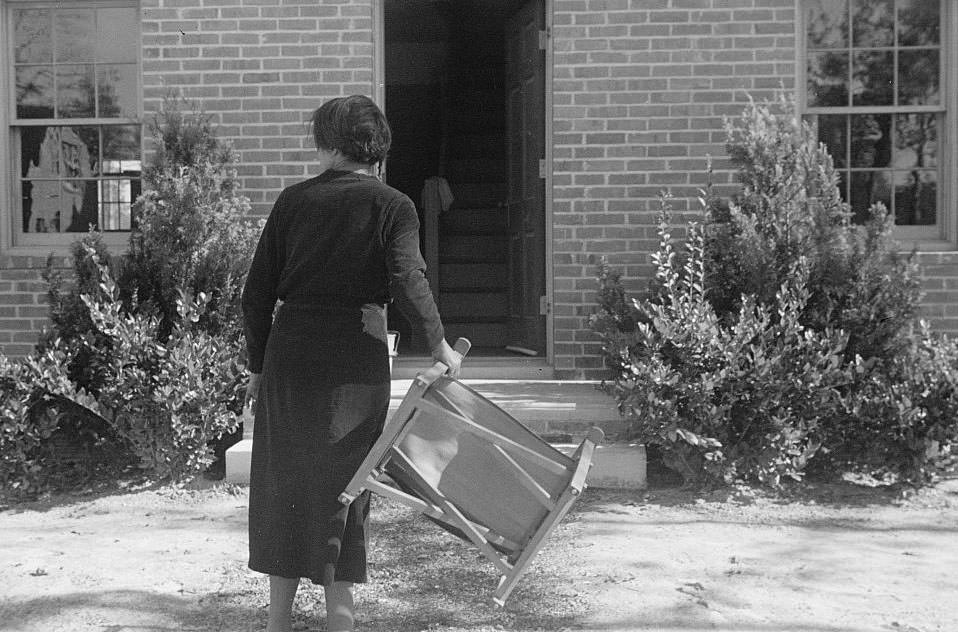
[(128, 231), (141, 188), (139, 11), (11, 2), (7, 28), (14, 245)]

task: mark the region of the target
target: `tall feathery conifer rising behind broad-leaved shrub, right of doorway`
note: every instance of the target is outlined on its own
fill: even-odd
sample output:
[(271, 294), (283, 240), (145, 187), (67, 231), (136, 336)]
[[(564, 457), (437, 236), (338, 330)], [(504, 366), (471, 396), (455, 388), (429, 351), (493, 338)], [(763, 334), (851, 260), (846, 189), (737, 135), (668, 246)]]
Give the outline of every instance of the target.
[(838, 173), (794, 102), (750, 102), (726, 122), (727, 150), (741, 193), (704, 203), (709, 299), (734, 314), (742, 296), (771, 304), (799, 258), (808, 261), (809, 300), (802, 320), (848, 333), (846, 359), (885, 357), (906, 345), (921, 300), (914, 257), (891, 239), (894, 219), (873, 206), (861, 226), (841, 200)]

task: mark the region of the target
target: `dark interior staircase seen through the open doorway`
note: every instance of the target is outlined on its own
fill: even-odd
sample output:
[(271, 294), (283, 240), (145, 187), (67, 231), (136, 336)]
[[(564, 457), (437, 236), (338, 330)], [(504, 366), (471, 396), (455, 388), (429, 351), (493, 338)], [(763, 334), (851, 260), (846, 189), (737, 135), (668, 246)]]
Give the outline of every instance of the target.
[(451, 43), (439, 166), (455, 198), (439, 218), (439, 309), (447, 338), (477, 354), (509, 343), (503, 44), (481, 32)]

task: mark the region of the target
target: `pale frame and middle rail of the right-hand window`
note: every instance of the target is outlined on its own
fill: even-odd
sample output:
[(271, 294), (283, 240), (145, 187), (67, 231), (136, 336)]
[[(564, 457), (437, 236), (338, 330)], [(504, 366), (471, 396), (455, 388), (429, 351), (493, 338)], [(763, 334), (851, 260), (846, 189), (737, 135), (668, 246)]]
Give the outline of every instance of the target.
[[(938, 222), (934, 228), (896, 226), (894, 237), (902, 246), (919, 251), (948, 251), (958, 246), (958, 3), (941, 0), (940, 94), (939, 105), (917, 106), (832, 106), (809, 107), (807, 86), (808, 41), (806, 25), (809, 0), (795, 2), (795, 97), (798, 113), (809, 115), (898, 114), (933, 112), (940, 114), (938, 138)], [(849, 18), (851, 27), (851, 19)], [(849, 43), (850, 45), (850, 43)], [(895, 48), (897, 49), (897, 43)], [(846, 170), (848, 173), (851, 171)]]

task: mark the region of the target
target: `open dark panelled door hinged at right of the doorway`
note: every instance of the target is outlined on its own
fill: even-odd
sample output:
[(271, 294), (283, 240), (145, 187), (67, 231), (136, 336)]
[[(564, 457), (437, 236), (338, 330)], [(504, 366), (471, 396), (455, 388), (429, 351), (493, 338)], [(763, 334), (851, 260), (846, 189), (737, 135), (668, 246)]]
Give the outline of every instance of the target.
[(506, 144), (509, 220), (509, 316), (511, 345), (542, 354), (546, 323), (545, 51), (543, 0), (531, 0), (506, 24)]

